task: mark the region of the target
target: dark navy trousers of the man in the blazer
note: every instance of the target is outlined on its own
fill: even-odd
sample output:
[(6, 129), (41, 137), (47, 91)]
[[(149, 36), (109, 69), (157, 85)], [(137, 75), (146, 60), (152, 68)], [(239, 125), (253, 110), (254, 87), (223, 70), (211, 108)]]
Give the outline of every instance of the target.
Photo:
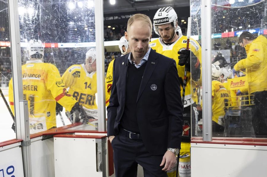
[(144, 170), (144, 177), (167, 177), (160, 166), (163, 155), (151, 155), (142, 140), (130, 139), (120, 131), (111, 142), (116, 177), (136, 177), (137, 165)]

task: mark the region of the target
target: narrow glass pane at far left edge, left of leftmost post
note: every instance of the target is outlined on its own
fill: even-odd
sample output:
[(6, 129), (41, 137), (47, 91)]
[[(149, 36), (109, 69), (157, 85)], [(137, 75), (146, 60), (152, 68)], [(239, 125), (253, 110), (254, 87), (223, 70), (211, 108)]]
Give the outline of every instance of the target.
[(14, 102), (9, 102), (13, 98), (9, 97), (9, 81), (12, 77), (9, 16), (7, 1), (0, 1), (0, 142), (16, 138), (14, 128), (14, 116), (10, 106)]

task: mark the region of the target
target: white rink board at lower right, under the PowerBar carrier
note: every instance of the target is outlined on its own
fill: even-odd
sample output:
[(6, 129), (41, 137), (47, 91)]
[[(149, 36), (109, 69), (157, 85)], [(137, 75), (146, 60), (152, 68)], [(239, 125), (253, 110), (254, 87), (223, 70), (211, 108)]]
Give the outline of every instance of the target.
[(267, 147), (191, 143), (191, 176), (265, 177)]

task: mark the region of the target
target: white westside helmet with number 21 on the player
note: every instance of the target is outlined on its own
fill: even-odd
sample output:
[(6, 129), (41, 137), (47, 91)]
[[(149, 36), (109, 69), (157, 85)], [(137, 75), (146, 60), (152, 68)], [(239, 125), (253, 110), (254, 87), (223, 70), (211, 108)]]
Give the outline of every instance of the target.
[(175, 10), (172, 7), (163, 7), (158, 9), (156, 12), (154, 18), (153, 18), (153, 29), (157, 35), (158, 33), (158, 26), (166, 25), (168, 23), (173, 22), (174, 24), (174, 31), (176, 32), (178, 30), (177, 25), (177, 14)]

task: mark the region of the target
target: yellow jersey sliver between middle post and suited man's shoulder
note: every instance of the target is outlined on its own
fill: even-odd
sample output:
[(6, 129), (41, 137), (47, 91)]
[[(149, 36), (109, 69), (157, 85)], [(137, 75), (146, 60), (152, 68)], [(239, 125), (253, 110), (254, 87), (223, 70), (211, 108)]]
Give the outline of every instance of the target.
[(112, 61), (110, 61), (108, 69), (107, 69), (107, 76), (106, 76), (106, 106), (109, 105), (109, 98), (111, 95), (111, 86), (112, 86), (112, 82), (113, 82), (113, 63), (114, 63), (113, 59)]

